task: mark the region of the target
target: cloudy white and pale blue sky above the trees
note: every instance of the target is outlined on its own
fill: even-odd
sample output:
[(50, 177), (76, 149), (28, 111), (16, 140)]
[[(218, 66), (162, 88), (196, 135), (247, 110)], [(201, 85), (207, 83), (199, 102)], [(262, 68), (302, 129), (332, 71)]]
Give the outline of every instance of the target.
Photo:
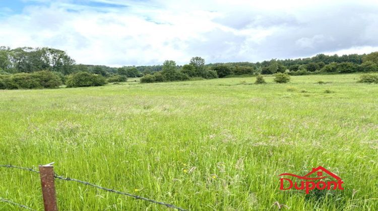
[(0, 46), (119, 67), (378, 51), (376, 0), (0, 0)]

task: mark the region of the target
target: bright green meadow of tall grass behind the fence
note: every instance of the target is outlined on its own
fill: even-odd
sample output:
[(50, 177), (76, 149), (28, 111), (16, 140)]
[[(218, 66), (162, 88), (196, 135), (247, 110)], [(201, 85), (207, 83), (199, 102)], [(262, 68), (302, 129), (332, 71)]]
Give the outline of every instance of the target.
[[(0, 90), (0, 164), (55, 162), (57, 174), (191, 210), (377, 210), (378, 85), (291, 78)], [(279, 174), (319, 165), (345, 190), (279, 190)], [(0, 178), (0, 197), (42, 209), (38, 174)], [(60, 210), (166, 209), (75, 182), (56, 189)]]

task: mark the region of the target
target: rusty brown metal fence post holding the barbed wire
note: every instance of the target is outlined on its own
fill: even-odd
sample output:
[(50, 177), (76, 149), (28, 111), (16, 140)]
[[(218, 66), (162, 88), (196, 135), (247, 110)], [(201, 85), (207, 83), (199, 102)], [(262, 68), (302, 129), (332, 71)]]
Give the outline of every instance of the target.
[(54, 167), (52, 164), (39, 166), (45, 211), (58, 210), (55, 195)]

